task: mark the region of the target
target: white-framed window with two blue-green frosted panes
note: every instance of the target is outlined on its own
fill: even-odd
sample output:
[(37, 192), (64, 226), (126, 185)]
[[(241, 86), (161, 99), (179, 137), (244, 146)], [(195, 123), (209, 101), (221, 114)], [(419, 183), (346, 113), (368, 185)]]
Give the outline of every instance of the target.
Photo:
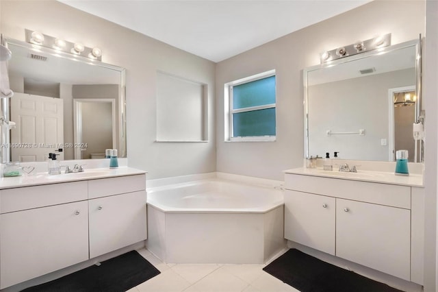
[(229, 87), (228, 141), (274, 141), (275, 71), (244, 78)]

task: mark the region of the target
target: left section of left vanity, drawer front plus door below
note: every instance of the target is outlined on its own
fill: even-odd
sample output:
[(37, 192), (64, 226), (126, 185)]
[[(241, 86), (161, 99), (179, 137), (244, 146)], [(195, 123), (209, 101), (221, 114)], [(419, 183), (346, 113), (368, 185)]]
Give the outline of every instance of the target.
[(87, 182), (0, 191), (0, 289), (88, 260), (86, 198)]

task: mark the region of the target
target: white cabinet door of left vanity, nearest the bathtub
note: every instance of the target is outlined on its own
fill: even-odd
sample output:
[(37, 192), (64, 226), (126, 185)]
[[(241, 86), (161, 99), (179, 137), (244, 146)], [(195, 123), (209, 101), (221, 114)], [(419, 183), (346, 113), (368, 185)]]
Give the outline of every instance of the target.
[(146, 191), (90, 199), (90, 258), (146, 239)]

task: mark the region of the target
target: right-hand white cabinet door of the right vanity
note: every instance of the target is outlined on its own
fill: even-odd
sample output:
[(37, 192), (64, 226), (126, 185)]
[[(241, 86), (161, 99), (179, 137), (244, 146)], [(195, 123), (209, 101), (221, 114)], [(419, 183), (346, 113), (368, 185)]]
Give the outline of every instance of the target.
[(411, 211), (337, 199), (336, 256), (410, 280)]

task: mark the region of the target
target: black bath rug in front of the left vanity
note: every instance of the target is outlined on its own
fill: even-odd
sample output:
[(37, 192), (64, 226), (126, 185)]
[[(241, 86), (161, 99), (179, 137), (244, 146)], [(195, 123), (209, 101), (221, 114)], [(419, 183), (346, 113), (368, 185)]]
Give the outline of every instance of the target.
[(24, 289), (26, 292), (124, 292), (159, 274), (135, 250), (67, 276)]

